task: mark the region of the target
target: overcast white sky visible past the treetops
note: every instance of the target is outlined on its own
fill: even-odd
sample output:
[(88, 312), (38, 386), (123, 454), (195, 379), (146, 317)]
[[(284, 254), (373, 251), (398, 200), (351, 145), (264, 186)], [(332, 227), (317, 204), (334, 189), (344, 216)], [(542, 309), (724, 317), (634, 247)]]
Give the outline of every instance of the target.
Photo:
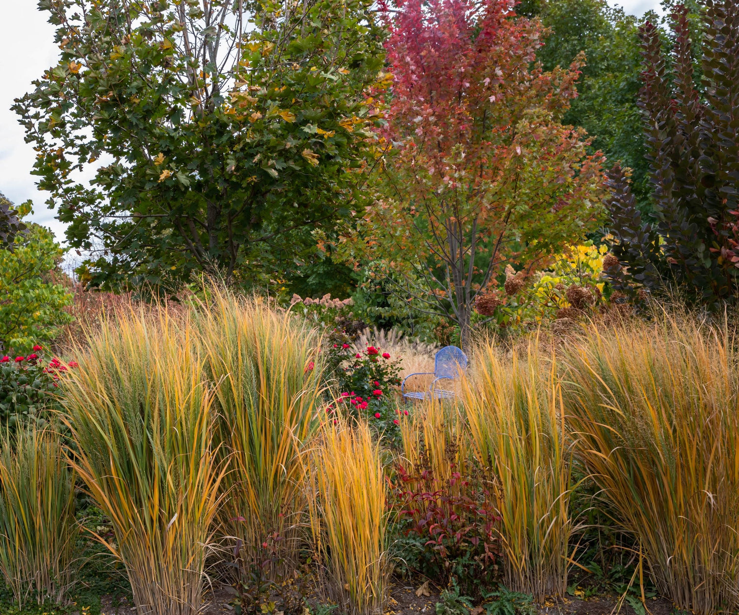
[[(611, 1), (638, 16), (659, 10), (659, 0)], [(58, 52), (47, 13), (38, 11), (36, 5), (37, 0), (0, 0), (0, 58), (4, 58), (0, 64), (0, 192), (13, 203), (32, 199), (32, 220), (50, 227), (61, 241), (64, 225), (44, 204), (48, 193), (36, 189), (36, 178), (30, 174), (35, 152), (24, 142), (24, 129), (10, 111), (13, 99), (31, 89), (31, 81), (55, 63)]]

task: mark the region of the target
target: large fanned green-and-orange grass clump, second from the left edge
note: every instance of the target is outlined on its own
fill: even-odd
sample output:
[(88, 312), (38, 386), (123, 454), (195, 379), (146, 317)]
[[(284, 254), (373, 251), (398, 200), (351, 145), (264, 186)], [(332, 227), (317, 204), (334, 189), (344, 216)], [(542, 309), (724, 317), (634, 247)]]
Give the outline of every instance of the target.
[(64, 378), (72, 465), (110, 517), (139, 613), (195, 615), (225, 469), (213, 395), (183, 314), (119, 310)]

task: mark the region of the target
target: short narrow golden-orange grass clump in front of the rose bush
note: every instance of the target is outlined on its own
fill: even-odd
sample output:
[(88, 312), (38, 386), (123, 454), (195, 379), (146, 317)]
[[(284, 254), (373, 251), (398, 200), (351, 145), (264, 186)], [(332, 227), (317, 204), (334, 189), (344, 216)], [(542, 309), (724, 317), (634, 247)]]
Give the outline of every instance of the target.
[(383, 612), (389, 584), (381, 444), (365, 421), (326, 421), (313, 452), (311, 525), (327, 590), (344, 612)]

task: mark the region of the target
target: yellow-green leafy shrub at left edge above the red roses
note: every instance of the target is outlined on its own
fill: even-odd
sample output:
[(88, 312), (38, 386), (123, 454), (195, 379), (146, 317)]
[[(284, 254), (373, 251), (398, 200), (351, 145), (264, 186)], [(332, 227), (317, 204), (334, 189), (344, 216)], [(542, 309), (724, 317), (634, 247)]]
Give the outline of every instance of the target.
[[(29, 201), (18, 208), (19, 219), (30, 212)], [(25, 353), (71, 322), (64, 307), (72, 295), (54, 282), (64, 250), (48, 228), (28, 222), (14, 247), (0, 250), (0, 344), (4, 353)]]

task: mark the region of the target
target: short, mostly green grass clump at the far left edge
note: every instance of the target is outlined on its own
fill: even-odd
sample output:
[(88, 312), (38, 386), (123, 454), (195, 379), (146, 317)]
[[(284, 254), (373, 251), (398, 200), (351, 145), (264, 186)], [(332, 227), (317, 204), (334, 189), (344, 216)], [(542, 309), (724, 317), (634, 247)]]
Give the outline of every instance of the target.
[(74, 585), (75, 476), (59, 435), (29, 427), (0, 441), (0, 571), (23, 608), (64, 603)]

